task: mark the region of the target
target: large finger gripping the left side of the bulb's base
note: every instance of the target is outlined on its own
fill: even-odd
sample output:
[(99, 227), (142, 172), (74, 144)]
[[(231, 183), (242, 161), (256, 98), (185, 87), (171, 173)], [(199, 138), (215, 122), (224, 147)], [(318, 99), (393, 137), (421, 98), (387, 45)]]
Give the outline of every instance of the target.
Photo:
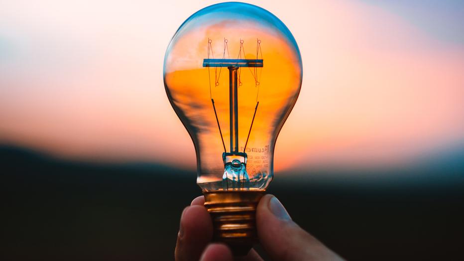
[(213, 223), (203, 206), (189, 206), (182, 212), (175, 250), (176, 261), (197, 261), (213, 237)]

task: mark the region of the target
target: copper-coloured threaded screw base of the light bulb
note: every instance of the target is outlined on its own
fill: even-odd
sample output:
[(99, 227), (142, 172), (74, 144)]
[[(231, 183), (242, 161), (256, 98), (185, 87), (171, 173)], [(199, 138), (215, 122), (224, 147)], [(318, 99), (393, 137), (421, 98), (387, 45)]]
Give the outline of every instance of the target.
[(213, 220), (213, 241), (228, 245), (234, 256), (248, 254), (257, 242), (256, 207), (264, 192), (203, 192)]

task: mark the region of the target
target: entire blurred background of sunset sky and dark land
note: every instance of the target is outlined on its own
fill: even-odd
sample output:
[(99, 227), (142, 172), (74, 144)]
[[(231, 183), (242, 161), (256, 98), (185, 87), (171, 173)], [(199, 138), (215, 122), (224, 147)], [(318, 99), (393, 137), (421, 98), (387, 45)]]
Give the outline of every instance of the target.
[[(348, 260), (463, 260), (464, 1), (245, 1), (303, 58), (268, 192)], [(174, 259), (201, 190), (163, 61), (216, 2), (2, 2), (0, 261)]]

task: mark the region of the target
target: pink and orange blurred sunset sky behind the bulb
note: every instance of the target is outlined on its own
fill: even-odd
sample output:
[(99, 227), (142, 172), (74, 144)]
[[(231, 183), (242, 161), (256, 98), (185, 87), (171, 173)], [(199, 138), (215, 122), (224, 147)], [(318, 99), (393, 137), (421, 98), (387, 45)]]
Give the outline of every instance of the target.
[[(163, 85), (177, 28), (218, 1), (2, 1), (0, 143), (193, 168)], [(464, 145), (464, 2), (246, 1), (303, 60), (275, 170), (381, 167)]]

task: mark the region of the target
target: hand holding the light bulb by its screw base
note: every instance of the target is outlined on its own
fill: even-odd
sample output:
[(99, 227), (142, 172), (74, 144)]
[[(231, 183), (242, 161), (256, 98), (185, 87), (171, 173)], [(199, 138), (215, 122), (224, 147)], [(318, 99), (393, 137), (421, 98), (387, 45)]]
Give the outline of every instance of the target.
[[(200, 196), (184, 209), (175, 250), (176, 261), (233, 261), (231, 250), (220, 243), (210, 243), (213, 223)], [(338, 261), (343, 260), (292, 221), (280, 201), (265, 195), (256, 208), (259, 242), (272, 260)], [(235, 260), (259, 261), (253, 249)]]

